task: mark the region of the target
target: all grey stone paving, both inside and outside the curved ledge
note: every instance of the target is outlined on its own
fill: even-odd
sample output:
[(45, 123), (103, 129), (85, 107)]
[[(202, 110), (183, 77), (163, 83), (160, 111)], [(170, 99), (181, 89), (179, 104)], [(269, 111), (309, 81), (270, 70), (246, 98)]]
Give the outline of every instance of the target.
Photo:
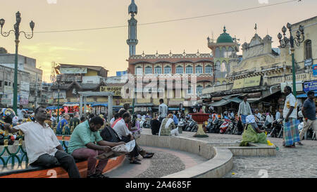
[[(151, 134), (150, 129), (143, 129), (142, 134)], [(180, 137), (197, 139), (206, 143), (236, 143), (242, 136), (227, 134), (208, 134), (209, 137), (195, 138), (193, 132), (182, 132)], [(233, 169), (225, 178), (281, 178), (281, 177), (317, 177), (317, 141), (304, 140), (304, 146), (296, 148), (282, 147), (282, 139), (268, 138), (271, 143), (279, 147), (275, 156), (271, 157), (242, 157), (233, 158)], [(156, 152), (151, 159), (142, 160), (142, 166), (133, 176), (127, 174), (116, 177), (163, 177), (173, 172), (197, 165), (204, 160), (182, 151), (166, 148), (144, 147), (148, 151)], [(187, 158), (184, 158), (187, 156)], [(169, 165), (168, 165), (169, 164)], [(171, 165), (171, 166), (170, 166)], [(129, 165), (130, 166), (130, 165)], [(139, 165), (133, 165), (134, 167)], [(173, 166), (175, 166), (173, 169)], [(125, 166), (123, 166), (125, 167)], [(126, 167), (130, 169), (129, 167)], [(117, 170), (118, 171), (118, 170)], [(110, 175), (111, 176), (111, 175)]]

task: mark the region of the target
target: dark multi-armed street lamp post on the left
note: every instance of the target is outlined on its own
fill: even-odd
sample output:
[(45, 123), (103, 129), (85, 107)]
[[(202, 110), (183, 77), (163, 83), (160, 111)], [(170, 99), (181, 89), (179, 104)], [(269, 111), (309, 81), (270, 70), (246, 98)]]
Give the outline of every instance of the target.
[(35, 23), (33, 21), (30, 22), (30, 27), (32, 30), (32, 34), (26, 34), (23, 31), (20, 31), (20, 23), (21, 23), (21, 13), (18, 11), (15, 13), (16, 23), (14, 24), (14, 30), (10, 30), (9, 32), (2, 32), (2, 28), (4, 27), (5, 20), (0, 20), (1, 25), (1, 35), (4, 37), (8, 37), (11, 32), (15, 34), (15, 64), (14, 64), (14, 87), (13, 87), (13, 110), (17, 113), (17, 105), (18, 105), (18, 46), (19, 46), (19, 37), (20, 33), (23, 33), (26, 39), (32, 39), (33, 30), (35, 27)]

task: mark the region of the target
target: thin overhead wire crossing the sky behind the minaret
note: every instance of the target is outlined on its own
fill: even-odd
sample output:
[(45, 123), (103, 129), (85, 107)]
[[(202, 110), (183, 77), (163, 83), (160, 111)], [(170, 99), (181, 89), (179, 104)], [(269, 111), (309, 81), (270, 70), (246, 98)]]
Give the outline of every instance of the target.
[[(180, 18), (180, 19), (175, 19), (175, 20), (162, 20), (162, 21), (157, 21), (157, 22), (151, 22), (151, 23), (141, 23), (139, 26), (142, 25), (154, 25), (154, 24), (159, 24), (159, 23), (170, 23), (170, 22), (176, 22), (176, 21), (181, 21), (181, 20), (192, 20), (192, 19), (197, 19), (197, 18), (206, 18), (206, 17), (211, 17), (211, 16), (216, 16), (216, 15), (224, 15), (228, 13), (237, 13), (237, 12), (242, 12), (242, 11), (249, 11), (249, 10), (254, 10), (257, 8), (265, 8), (269, 6), (277, 6), (280, 4), (289, 4), (294, 1), (299, 1), (299, 0), (290, 0), (290, 1), (282, 1), (280, 3), (276, 4), (268, 4), (265, 6), (256, 6), (256, 7), (251, 7), (251, 8), (243, 8), (235, 11), (226, 11), (223, 13), (212, 13), (208, 15), (200, 15), (196, 17), (190, 17), (190, 18)], [(88, 28), (88, 29), (75, 29), (75, 30), (55, 30), (55, 31), (42, 31), (42, 32), (34, 32), (34, 33), (56, 33), (56, 32), (79, 32), (79, 31), (90, 31), (90, 30), (107, 30), (107, 29), (114, 29), (114, 28), (122, 28), (122, 27), (129, 27), (128, 25), (118, 25), (118, 26), (112, 26), (112, 27), (99, 27), (99, 28)]]

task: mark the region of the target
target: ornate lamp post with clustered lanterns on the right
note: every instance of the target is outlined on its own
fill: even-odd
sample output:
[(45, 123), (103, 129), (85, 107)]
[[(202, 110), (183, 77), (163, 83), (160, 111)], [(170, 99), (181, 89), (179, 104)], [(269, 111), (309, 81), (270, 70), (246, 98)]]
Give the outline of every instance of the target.
[[(286, 28), (287, 27), (287, 28)], [(299, 46), (304, 41), (304, 27), (302, 25), (299, 25), (299, 30), (296, 32), (296, 37), (293, 37), (292, 35), (292, 25), (290, 23), (287, 23), (287, 25), (282, 27), (282, 33), (278, 33), (278, 39), (280, 40), (280, 47), (285, 48), (289, 43), (291, 47), (291, 53), (292, 53), (292, 74), (293, 74), (293, 95), (296, 98), (296, 76), (295, 76), (295, 60), (294, 60), (294, 44)], [(287, 29), (290, 31), (290, 37), (287, 38), (285, 32), (287, 32)]]

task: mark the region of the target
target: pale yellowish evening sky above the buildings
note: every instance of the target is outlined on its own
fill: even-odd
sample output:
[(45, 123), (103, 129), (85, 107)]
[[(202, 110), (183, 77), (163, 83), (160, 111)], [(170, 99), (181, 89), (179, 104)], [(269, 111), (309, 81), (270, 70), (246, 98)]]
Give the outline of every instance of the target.
[[(199, 15), (223, 13), (256, 6), (266, 6), (287, 0), (135, 0), (138, 24), (162, 20), (190, 18)], [(15, 13), (20, 11), (20, 30), (30, 32), (29, 23), (35, 22), (32, 39), (20, 36), (19, 53), (35, 58), (37, 68), (43, 70), (43, 81), (50, 82), (51, 62), (99, 65), (109, 70), (127, 70), (129, 49), (128, 27), (78, 32), (51, 32), (98, 27), (128, 25), (128, 6), (131, 0), (10, 0), (1, 1), (0, 18), (6, 23), (4, 31), (12, 30)], [(225, 25), (240, 44), (249, 42), (255, 34), (273, 37), (278, 46), (277, 34), (283, 25), (297, 23), (317, 15), (316, 0), (302, 0), (255, 10), (214, 15), (206, 18), (182, 20), (137, 28), (137, 54), (158, 53), (211, 53), (207, 37), (216, 39)], [(39, 33), (41, 32), (41, 33)], [(15, 53), (14, 35), (0, 37), (0, 46)], [(242, 54), (242, 51), (240, 51)]]

